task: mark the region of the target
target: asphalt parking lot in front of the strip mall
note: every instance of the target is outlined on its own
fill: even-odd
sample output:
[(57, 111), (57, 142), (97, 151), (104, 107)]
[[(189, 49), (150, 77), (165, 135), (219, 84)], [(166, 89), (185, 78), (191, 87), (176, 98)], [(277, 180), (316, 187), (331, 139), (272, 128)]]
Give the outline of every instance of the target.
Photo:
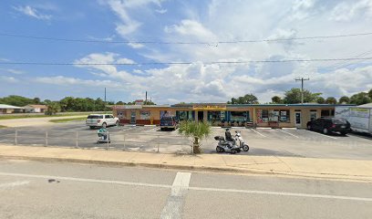
[[(0, 143), (108, 149), (119, 151), (151, 151), (190, 153), (191, 141), (178, 131), (160, 131), (153, 126), (109, 127), (109, 144), (97, 143), (98, 130), (89, 130), (84, 123), (69, 122), (45, 127), (23, 127), (0, 130)], [(297, 129), (232, 129), (241, 131), (250, 151), (244, 155), (292, 156), (310, 158), (337, 158), (372, 160), (372, 139), (366, 136), (324, 135)], [(15, 138), (16, 135), (16, 138)], [(212, 128), (211, 136), (202, 141), (203, 151), (215, 153), (216, 135), (224, 129)], [(16, 141), (15, 141), (16, 139)]]

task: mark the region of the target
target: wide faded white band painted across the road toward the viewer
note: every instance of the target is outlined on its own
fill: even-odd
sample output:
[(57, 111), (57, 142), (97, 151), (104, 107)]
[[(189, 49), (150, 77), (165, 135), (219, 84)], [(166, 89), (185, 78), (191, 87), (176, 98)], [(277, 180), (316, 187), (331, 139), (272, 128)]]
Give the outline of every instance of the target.
[(191, 172), (177, 172), (176, 178), (171, 185), (171, 195), (163, 208), (160, 218), (181, 218), (183, 196), (187, 193), (191, 178)]

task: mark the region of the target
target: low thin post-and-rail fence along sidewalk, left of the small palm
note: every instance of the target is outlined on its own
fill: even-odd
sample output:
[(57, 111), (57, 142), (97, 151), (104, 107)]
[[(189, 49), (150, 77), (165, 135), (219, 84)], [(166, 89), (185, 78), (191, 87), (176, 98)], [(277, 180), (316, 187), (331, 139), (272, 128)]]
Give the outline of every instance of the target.
[(15, 145), (74, 147), (120, 151), (191, 152), (191, 141), (180, 135), (108, 132), (109, 140), (98, 142), (95, 131), (6, 130), (0, 142)]

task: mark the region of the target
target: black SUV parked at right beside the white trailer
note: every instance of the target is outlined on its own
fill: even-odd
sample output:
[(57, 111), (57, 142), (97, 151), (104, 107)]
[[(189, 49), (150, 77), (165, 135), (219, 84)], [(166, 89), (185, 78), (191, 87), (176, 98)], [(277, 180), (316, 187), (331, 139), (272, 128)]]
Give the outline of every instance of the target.
[(307, 122), (307, 130), (318, 130), (324, 134), (340, 132), (342, 135), (351, 131), (350, 123), (347, 120), (336, 118), (319, 118), (309, 121)]

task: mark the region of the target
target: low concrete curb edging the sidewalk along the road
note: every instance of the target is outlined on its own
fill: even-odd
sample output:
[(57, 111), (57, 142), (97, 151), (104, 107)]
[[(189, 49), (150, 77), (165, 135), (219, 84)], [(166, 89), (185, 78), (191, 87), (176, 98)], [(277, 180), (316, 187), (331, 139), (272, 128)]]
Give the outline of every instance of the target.
[(260, 174), (260, 175), (276, 175), (286, 177), (311, 178), (322, 180), (338, 180), (338, 181), (352, 181), (361, 183), (372, 183), (372, 177), (368, 176), (351, 176), (339, 175), (330, 173), (313, 173), (313, 172), (279, 172), (279, 171), (264, 171), (259, 169), (242, 170), (229, 167), (212, 167), (212, 166), (193, 166), (193, 165), (177, 165), (168, 163), (148, 163), (148, 162), (108, 162), (98, 160), (83, 160), (83, 159), (68, 159), (68, 158), (51, 158), (51, 157), (37, 157), (37, 156), (14, 156), (14, 155), (0, 155), (0, 159), (14, 159), (14, 160), (28, 160), (36, 162), (75, 162), (84, 164), (98, 164), (98, 165), (115, 165), (128, 167), (146, 167), (158, 168), (168, 170), (183, 170), (195, 172), (222, 172), (222, 173), (241, 173), (241, 174)]

